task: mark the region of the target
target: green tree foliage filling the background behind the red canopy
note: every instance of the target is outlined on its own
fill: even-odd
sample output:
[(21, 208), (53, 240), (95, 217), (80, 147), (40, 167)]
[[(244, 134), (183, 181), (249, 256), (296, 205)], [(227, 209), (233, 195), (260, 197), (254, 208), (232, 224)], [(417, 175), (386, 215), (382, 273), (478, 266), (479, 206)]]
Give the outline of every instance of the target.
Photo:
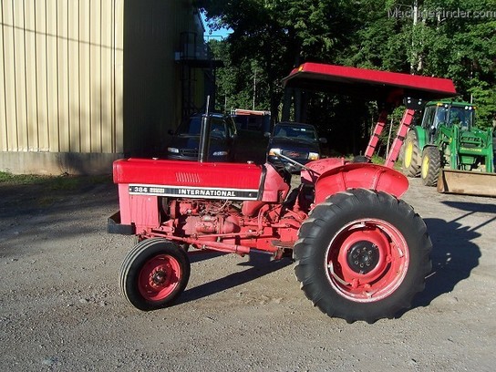
[[(459, 98), (480, 108), (480, 125), (493, 125), (494, 0), (201, 0), (199, 5), (210, 26), (233, 29), (225, 41), (229, 73), (219, 79), (228, 101), (251, 108), (256, 68), (261, 81), (256, 109), (268, 105), (277, 118), (281, 79), (300, 63), (314, 61), (452, 78)], [(358, 120), (364, 139), (377, 114), (369, 105), (356, 109), (348, 98), (315, 95), (308, 102), (308, 120), (328, 122), (325, 113), (337, 121)], [(331, 114), (335, 109), (346, 109), (346, 115), (338, 118)]]

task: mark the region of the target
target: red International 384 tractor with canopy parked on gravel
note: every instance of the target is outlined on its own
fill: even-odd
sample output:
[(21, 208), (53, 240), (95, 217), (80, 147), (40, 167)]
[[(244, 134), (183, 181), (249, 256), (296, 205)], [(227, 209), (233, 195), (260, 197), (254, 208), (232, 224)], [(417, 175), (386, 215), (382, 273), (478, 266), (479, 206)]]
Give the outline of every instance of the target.
[[(396, 104), (410, 93), (438, 98), (454, 91), (446, 79), (317, 64), (284, 79), (303, 88), (315, 82)], [(208, 116), (203, 127), (204, 136)], [(308, 299), (347, 322), (394, 317), (424, 288), (432, 243), (423, 220), (398, 199), (408, 189), (398, 171), (284, 158), (302, 169), (291, 190), (284, 171), (269, 163), (209, 162), (205, 153), (201, 145), (198, 162), (114, 163), (120, 211), (109, 219), (109, 233), (138, 236), (122, 263), (120, 289), (140, 310), (170, 305), (188, 284), (190, 254), (206, 251), (293, 257)]]

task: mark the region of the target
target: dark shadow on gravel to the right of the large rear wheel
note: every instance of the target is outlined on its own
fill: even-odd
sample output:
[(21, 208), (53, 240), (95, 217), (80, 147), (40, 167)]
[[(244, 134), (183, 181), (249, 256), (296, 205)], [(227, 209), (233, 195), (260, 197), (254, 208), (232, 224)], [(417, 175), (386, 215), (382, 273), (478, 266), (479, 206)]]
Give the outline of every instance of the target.
[[(453, 221), (426, 219), (430, 239), (432, 272), (426, 280), (425, 290), (418, 294), (412, 307), (427, 306), (441, 294), (449, 293), (456, 284), (470, 276), (479, 265), (480, 249), (471, 241), (480, 236), (478, 230), (496, 220), (496, 205), (474, 202), (442, 202), (465, 213)], [(480, 225), (462, 226), (459, 221), (476, 212), (488, 213), (489, 218)], [(492, 216), (491, 216), (492, 214)]]

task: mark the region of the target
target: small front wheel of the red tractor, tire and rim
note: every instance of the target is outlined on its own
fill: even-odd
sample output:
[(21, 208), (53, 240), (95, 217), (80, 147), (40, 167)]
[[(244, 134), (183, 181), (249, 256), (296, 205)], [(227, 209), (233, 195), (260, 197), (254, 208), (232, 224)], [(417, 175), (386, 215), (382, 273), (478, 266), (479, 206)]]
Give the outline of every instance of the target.
[(135, 245), (120, 267), (120, 290), (140, 310), (169, 305), (184, 291), (190, 260), (177, 244), (161, 238)]

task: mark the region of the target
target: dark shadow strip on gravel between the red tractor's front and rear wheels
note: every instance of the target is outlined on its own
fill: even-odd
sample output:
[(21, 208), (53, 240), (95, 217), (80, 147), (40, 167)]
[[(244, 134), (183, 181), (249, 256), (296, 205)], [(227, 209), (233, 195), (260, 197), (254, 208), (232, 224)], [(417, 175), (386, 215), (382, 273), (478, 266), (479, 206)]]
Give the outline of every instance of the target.
[(223, 278), (188, 289), (181, 294), (181, 297), (175, 305), (195, 301), (200, 298), (225, 291), (226, 289), (233, 288), (237, 285), (251, 282), (262, 277), (263, 275), (274, 273), (292, 263), (293, 261), (289, 259), (271, 261), (271, 257), (268, 255), (259, 253), (251, 254), (250, 261), (238, 264), (251, 266), (249, 269), (246, 269), (240, 273), (229, 274)]

